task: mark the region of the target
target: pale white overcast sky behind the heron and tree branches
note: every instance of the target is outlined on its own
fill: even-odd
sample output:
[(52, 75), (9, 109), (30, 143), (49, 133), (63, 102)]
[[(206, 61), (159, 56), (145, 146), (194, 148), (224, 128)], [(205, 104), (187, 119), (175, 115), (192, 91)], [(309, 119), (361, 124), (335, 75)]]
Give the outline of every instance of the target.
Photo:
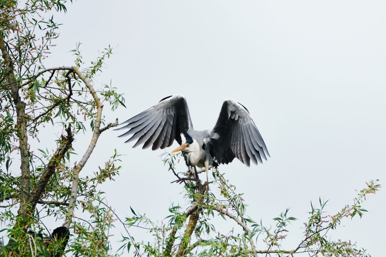
[[(366, 181), (386, 181), (385, 7), (356, 0), (74, 1), (68, 14), (54, 14), (63, 25), (47, 67), (72, 65), (68, 51), (76, 42), (85, 66), (98, 49), (115, 47), (95, 86), (111, 79), (127, 109), (111, 113), (106, 106), (108, 122), (179, 93), (195, 129), (210, 129), (225, 98), (242, 103), (271, 158), (250, 168), (235, 159), (220, 171), (245, 193), (254, 220), (274, 225), (272, 218), (291, 207), (299, 220), (283, 245), (294, 249), (310, 201), (329, 200), (327, 214), (334, 215)], [(185, 203), (182, 186), (169, 184), (175, 178), (158, 157), (163, 150), (132, 149), (118, 135), (102, 134), (82, 173), (92, 174), (116, 148), (125, 156), (120, 177), (103, 188), (108, 203), (121, 217), (132, 206), (161, 221), (171, 203)], [(75, 150), (88, 141), (76, 139)], [(384, 190), (368, 196), (362, 208), (369, 213), (345, 220), (332, 237), (381, 256), (385, 202)], [(116, 226), (119, 240), (123, 229)]]

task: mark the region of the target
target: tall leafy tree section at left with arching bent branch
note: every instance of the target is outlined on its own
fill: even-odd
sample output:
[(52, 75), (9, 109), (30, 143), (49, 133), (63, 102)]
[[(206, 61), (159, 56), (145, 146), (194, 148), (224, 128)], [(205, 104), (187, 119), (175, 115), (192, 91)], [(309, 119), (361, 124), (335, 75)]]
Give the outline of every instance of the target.
[[(83, 248), (85, 240), (97, 236), (99, 242), (90, 241), (95, 252), (105, 252), (108, 249), (107, 212), (95, 209), (94, 198), (98, 199), (97, 185), (116, 174), (119, 167), (115, 166), (115, 153), (105, 167), (100, 169), (94, 178), (80, 178), (79, 173), (87, 162), (99, 136), (103, 131), (117, 124), (109, 123), (101, 127), (105, 121), (102, 115), (103, 104), (108, 103), (113, 109), (124, 105), (122, 95), (115, 88), (104, 86), (95, 90), (92, 81), (103, 65), (103, 61), (111, 54), (109, 47), (102, 52), (89, 68), (81, 70), (82, 57), (78, 48), (73, 50), (76, 56), (75, 66), (59, 66), (45, 68), (43, 60), (49, 54), (52, 41), (58, 37), (58, 24), (52, 11), (66, 11), (66, 1), (27, 1), (25, 4), (17, 1), (1, 1), (0, 49), (1, 63), (1, 201), (8, 201), (2, 206), (2, 222), (10, 226), (6, 229), (10, 243), (3, 247), (10, 255), (30, 256), (35, 254), (50, 254), (60, 249), (56, 245), (41, 247), (36, 245), (34, 238), (29, 237), (28, 228), (38, 230), (39, 213), (36, 206), (42, 205), (49, 216), (65, 218), (64, 226), (70, 225), (78, 234), (76, 247)], [(74, 137), (86, 130), (82, 118), (90, 122), (92, 130), (91, 142), (83, 157), (70, 167), (72, 152), (71, 143)], [(39, 140), (40, 133), (47, 126), (59, 125), (59, 131), (65, 132), (57, 142), (57, 148), (51, 154), (49, 150), (31, 149), (30, 141)], [(13, 176), (10, 171), (14, 152), (20, 154), (20, 175)], [(39, 154), (40, 151), (40, 154)], [(73, 220), (76, 203), (80, 203), (78, 192), (82, 192), (84, 201), (81, 206), (91, 208), (95, 220), (107, 219), (101, 230), (86, 230), (83, 225)], [(19, 205), (17, 213), (12, 213), (11, 207)], [(106, 220), (105, 220), (106, 221)], [(76, 225), (78, 224), (78, 225)], [(111, 225), (111, 222), (110, 222)], [(99, 235), (99, 233), (101, 233)], [(33, 249), (30, 248), (34, 241)], [(29, 243), (26, 243), (29, 242)], [(40, 242), (41, 244), (43, 242)], [(93, 245), (95, 244), (95, 245)], [(47, 252), (47, 249), (49, 250)], [(75, 251), (75, 250), (74, 250)], [(76, 250), (84, 254), (85, 250)], [(87, 255), (87, 254), (86, 254)]]

